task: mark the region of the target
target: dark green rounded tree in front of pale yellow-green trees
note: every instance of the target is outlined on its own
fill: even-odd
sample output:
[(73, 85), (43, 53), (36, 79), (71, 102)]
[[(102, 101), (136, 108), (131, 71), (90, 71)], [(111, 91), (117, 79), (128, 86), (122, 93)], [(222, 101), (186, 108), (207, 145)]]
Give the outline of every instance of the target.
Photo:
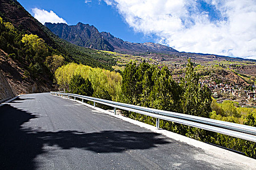
[(71, 93), (84, 95), (84, 96), (92, 96), (93, 88), (92, 84), (87, 78), (86, 80), (79, 74), (72, 76), (69, 82), (69, 89)]

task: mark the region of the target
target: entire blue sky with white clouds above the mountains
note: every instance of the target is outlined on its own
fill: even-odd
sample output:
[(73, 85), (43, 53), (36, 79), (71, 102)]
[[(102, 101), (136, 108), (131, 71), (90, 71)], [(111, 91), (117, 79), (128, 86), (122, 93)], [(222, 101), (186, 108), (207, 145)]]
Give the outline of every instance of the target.
[(256, 0), (18, 1), (42, 23), (88, 23), (125, 41), (256, 59)]

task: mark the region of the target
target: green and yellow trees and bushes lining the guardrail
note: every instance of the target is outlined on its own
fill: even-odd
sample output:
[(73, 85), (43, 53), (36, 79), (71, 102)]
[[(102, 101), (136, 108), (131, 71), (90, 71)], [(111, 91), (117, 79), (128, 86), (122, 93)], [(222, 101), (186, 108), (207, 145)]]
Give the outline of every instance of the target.
[[(130, 62), (121, 74), (69, 63), (58, 68), (55, 77), (66, 92), (87, 93), (74, 91), (74, 87), (82, 86), (80, 83), (74, 85), (74, 82), (79, 82), (77, 81), (79, 77), (84, 79), (82, 82), (85, 86), (90, 84), (85, 83), (85, 80), (91, 82), (89, 96), (256, 127), (255, 108), (242, 108), (237, 102), (232, 101), (217, 103), (211, 97), (208, 87), (199, 83), (199, 74), (190, 60), (185, 69), (185, 77), (181, 78), (179, 83), (173, 80), (172, 73), (167, 67), (160, 69), (147, 62), (140, 64)], [(98, 106), (110, 109), (103, 105)], [(127, 111), (122, 111), (122, 114), (144, 123), (156, 124), (156, 119), (149, 116)], [(165, 120), (160, 120), (160, 128), (256, 157), (254, 142)]]

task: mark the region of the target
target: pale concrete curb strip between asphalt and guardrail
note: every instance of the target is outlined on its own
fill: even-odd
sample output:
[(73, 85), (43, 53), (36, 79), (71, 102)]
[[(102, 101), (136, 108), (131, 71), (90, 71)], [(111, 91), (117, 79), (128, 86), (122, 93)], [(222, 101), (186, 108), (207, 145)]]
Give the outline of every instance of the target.
[[(68, 99), (65, 97), (61, 97), (61, 98)], [(75, 101), (74, 99), (69, 99), (69, 100)], [(244, 166), (244, 168), (247, 170), (256, 170), (256, 159), (253, 159), (253, 158), (250, 158), (250, 157), (238, 154), (238, 153), (234, 153), (234, 152), (231, 152), (231, 151), (228, 151), (228, 150), (225, 150), (225, 149), (222, 149), (222, 148), (219, 148), (219, 147), (216, 147), (216, 146), (213, 146), (213, 145), (210, 145), (210, 144), (207, 144), (207, 143), (204, 143), (204, 142), (201, 142), (201, 141), (198, 141), (198, 140), (186, 137), (186, 136), (182, 136), (182, 135), (179, 135), (179, 134), (167, 131), (167, 130), (157, 129), (155, 126), (140, 122), (138, 120), (130, 119), (130, 118), (127, 118), (127, 117), (124, 117), (121, 115), (115, 115), (112, 112), (103, 110), (98, 107), (94, 107), (93, 105), (90, 105), (90, 104), (87, 104), (87, 103), (84, 103), (81, 101), (76, 100), (75, 102), (79, 102), (85, 106), (91, 107), (95, 110), (98, 110), (101, 113), (105, 113), (105, 114), (111, 115), (115, 118), (122, 119), (124, 121), (136, 124), (140, 127), (151, 130), (152, 132), (161, 134), (163, 136), (167, 136), (168, 138), (178, 140), (180, 142), (187, 143), (188, 145), (192, 145), (194, 147), (200, 148), (200, 149), (204, 150), (204, 152), (207, 153), (207, 155), (209, 155), (207, 157), (199, 157), (198, 156), (197, 159), (204, 160), (207, 162), (208, 161), (213, 162), (213, 161), (218, 161), (218, 159), (222, 159), (222, 160), (226, 160), (234, 165), (240, 164), (240, 165)]]

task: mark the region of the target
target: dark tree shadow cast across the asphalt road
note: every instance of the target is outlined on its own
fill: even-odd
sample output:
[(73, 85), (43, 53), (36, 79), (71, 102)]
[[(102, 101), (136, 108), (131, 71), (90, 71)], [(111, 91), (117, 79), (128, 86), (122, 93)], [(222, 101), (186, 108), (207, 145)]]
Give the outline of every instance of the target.
[(24, 126), (35, 113), (19, 110), (11, 105), (0, 107), (0, 169), (34, 170), (35, 158), (46, 153), (45, 145), (61, 149), (80, 148), (95, 153), (121, 153), (125, 150), (144, 150), (167, 144), (157, 133), (132, 131), (39, 131)]

